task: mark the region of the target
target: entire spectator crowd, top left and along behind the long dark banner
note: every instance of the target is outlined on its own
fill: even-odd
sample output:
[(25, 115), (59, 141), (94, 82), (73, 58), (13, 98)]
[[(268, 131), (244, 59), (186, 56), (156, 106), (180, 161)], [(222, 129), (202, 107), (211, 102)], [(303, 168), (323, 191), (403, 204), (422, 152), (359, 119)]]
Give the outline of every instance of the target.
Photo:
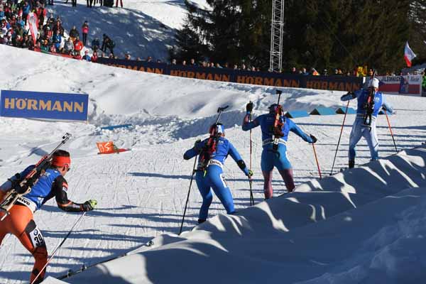
[[(46, 3), (48, 1), (48, 3)], [(87, 0), (87, 7), (92, 7), (92, 5), (100, 4), (101, 6), (107, 5), (107, 2), (112, 6), (114, 0)], [(116, 6), (123, 3), (121, 0), (116, 0)], [(65, 4), (68, 3), (68, 0), (65, 1)], [(77, 5), (76, 0), (71, 0), (72, 6)], [(82, 59), (92, 62), (97, 62), (98, 53), (102, 58), (114, 58), (118, 59), (114, 55), (115, 43), (107, 34), (102, 35), (102, 42), (99, 38), (93, 38), (90, 43), (90, 48), (92, 49), (92, 55), (89, 54), (88, 49), (88, 35), (89, 35), (89, 22), (84, 21), (80, 29), (77, 29), (76, 26), (73, 26), (69, 33), (65, 31), (65, 28), (62, 26), (62, 21), (60, 16), (56, 18), (53, 14), (47, 16), (48, 11), (45, 8), (45, 5), (54, 5), (54, 0), (0, 0), (0, 44), (11, 45), (16, 48), (26, 48), (29, 50), (37, 50), (45, 53), (53, 53), (56, 55), (67, 56), (75, 59)], [(38, 25), (38, 33), (36, 35), (31, 34), (31, 28), (28, 23), (29, 18), (35, 18)], [(80, 39), (81, 35), (81, 39)], [(106, 55), (107, 52), (109, 55)], [(131, 55), (126, 53), (124, 59), (132, 60)], [(136, 58), (136, 60), (141, 61), (141, 58)], [(148, 56), (144, 59), (146, 62), (153, 62), (153, 58)], [(156, 60), (156, 62), (161, 62), (161, 60)], [(256, 66), (246, 65), (245, 62), (241, 64), (229, 64), (228, 62), (219, 63), (213, 62), (212, 60), (203, 60), (197, 62), (194, 58), (190, 60), (182, 60), (178, 64), (177, 60), (170, 60), (171, 65), (181, 65), (181, 66), (194, 66), (194, 67), (210, 67), (210, 68), (227, 68), (231, 70), (241, 70), (241, 71), (250, 71), (250, 72), (271, 72), (271, 70), (261, 70), (261, 68)], [(336, 68), (329, 72), (327, 69), (318, 72), (315, 67), (311, 67), (309, 71), (305, 67), (296, 68), (292, 67), (288, 72), (285, 70), (283, 73), (293, 74), (293, 75), (334, 75), (334, 76), (371, 76), (373, 75), (373, 70), (368, 70), (364, 74), (360, 74), (358, 68), (353, 70), (342, 70)], [(385, 75), (385, 74), (383, 74)], [(388, 76), (394, 76), (395, 72), (386, 72)], [(403, 75), (400, 73), (399, 75)]]

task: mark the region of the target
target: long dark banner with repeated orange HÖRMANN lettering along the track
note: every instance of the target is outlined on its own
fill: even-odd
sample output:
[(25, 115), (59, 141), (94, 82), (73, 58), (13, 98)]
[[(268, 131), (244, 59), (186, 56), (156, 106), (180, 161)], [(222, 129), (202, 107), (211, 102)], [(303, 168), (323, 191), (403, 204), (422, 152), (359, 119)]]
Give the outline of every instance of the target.
[(98, 58), (97, 62), (100, 64), (162, 75), (240, 84), (259, 84), (273, 87), (329, 89), (353, 92), (357, 89), (361, 89), (363, 83), (362, 77), (352, 76), (291, 75), (285, 73), (252, 72), (214, 67), (168, 65), (158, 62), (109, 58)]

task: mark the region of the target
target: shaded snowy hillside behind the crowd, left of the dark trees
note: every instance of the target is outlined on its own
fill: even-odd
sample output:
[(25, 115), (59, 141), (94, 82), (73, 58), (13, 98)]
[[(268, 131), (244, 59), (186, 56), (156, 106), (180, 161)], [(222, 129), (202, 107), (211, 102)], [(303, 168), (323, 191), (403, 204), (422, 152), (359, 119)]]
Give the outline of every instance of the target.
[[(124, 8), (116, 8), (114, 3), (113, 8), (97, 4), (92, 9), (87, 8), (85, 0), (78, 0), (76, 7), (70, 2), (55, 1), (54, 6), (47, 6), (48, 16), (60, 16), (67, 32), (76, 26), (80, 39), (82, 24), (88, 21), (87, 45), (91, 46), (94, 38), (102, 44), (102, 35), (106, 33), (116, 43), (114, 55), (119, 58), (130, 53), (133, 59), (151, 56), (168, 60), (168, 48), (173, 46), (175, 32), (182, 27), (187, 13), (184, 0), (124, 0)], [(205, 0), (191, 2), (207, 6)]]

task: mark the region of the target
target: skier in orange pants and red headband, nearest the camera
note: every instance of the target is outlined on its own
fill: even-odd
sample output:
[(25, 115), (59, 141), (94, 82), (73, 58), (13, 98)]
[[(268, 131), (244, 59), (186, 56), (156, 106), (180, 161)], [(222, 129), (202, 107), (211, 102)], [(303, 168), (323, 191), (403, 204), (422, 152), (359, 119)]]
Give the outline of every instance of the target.
[[(43, 281), (43, 268), (48, 261), (45, 241), (34, 222), (33, 213), (53, 197), (58, 207), (66, 212), (87, 212), (97, 205), (96, 200), (87, 200), (82, 204), (68, 200), (68, 185), (64, 176), (70, 166), (70, 153), (55, 150), (37, 165), (30, 165), (0, 186), (0, 244), (6, 234), (13, 234), (33, 255), (35, 263), (30, 283)], [(8, 202), (11, 197), (13, 201)]]

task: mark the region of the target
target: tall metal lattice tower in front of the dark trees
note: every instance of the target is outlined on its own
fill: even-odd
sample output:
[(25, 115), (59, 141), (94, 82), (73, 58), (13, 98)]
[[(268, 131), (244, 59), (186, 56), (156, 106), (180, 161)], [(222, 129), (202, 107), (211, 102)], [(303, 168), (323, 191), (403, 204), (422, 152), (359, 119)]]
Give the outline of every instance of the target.
[(280, 72), (283, 66), (284, 0), (272, 0), (271, 58), (269, 69)]

